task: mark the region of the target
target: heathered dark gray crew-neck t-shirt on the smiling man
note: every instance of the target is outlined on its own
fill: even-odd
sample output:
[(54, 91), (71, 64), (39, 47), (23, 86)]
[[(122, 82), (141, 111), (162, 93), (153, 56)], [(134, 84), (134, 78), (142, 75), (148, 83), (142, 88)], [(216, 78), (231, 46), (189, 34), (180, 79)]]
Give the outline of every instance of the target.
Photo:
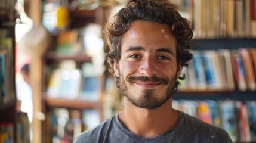
[(82, 132), (74, 141), (81, 142), (232, 142), (228, 133), (221, 128), (202, 122), (196, 117), (180, 111), (178, 123), (154, 138), (143, 138), (127, 130), (115, 114), (100, 125)]

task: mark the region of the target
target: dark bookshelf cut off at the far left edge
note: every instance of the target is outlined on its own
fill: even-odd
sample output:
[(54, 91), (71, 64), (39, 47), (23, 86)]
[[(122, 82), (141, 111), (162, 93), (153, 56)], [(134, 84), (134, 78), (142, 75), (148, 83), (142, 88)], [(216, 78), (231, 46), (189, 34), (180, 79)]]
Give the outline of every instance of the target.
[(0, 137), (16, 142), (16, 94), (14, 74), (15, 21), (14, 1), (0, 2)]

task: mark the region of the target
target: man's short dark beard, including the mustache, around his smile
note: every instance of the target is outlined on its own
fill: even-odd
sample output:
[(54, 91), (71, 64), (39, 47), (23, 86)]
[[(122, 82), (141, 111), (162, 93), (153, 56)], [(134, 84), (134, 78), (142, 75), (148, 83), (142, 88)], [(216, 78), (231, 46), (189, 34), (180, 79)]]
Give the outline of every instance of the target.
[[(120, 72), (119, 72), (120, 73)], [(177, 73), (176, 73), (177, 74)], [(153, 89), (144, 89), (140, 94), (140, 96), (135, 97), (132, 96), (131, 91), (129, 91), (127, 84), (124, 81), (124, 77), (119, 75), (119, 91), (121, 92), (124, 97), (126, 97), (135, 107), (138, 108), (145, 108), (150, 110), (155, 110), (158, 107), (161, 107), (166, 101), (168, 101), (172, 95), (174, 94), (175, 89), (175, 77), (172, 76), (171, 80), (161, 78), (161, 77), (146, 77), (146, 76), (139, 76), (139, 77), (128, 77), (128, 82), (132, 81), (141, 81), (141, 82), (161, 82), (164, 85), (168, 85), (168, 88), (166, 89), (165, 95), (158, 95), (158, 97), (161, 96), (161, 98), (157, 98), (156, 96), (153, 96)], [(155, 94), (157, 91), (155, 91)]]

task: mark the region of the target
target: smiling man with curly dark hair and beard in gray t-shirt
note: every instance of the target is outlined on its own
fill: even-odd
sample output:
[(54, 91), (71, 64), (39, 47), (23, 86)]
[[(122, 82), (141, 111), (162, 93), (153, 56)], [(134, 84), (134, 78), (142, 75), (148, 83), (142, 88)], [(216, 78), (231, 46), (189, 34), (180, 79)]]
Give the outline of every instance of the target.
[(172, 108), (192, 29), (167, 1), (131, 0), (107, 27), (124, 110), (74, 142), (232, 142), (223, 129)]

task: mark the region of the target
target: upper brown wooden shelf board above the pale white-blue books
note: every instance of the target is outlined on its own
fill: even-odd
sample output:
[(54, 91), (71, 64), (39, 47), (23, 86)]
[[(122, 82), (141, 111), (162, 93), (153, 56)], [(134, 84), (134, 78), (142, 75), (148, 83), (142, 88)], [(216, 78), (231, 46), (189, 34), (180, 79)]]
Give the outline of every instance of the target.
[(91, 61), (91, 57), (85, 54), (78, 54), (78, 55), (60, 55), (55, 54), (55, 52), (48, 52), (45, 56), (45, 60), (75, 60), (76, 62), (85, 62)]

